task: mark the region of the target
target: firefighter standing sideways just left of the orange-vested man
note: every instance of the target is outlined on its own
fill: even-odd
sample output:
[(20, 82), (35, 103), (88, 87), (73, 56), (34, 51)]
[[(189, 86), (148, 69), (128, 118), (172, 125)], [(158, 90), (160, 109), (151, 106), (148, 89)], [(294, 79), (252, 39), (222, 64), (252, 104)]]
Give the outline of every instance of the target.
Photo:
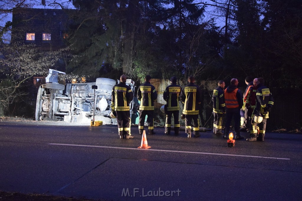
[(223, 113), (226, 111), (226, 104), (224, 103), (224, 90), (225, 82), (223, 80), (218, 81), (218, 87), (213, 90), (213, 115), (214, 115), (214, 124), (213, 132), (215, 134), (222, 135), (222, 122), (223, 122)]

